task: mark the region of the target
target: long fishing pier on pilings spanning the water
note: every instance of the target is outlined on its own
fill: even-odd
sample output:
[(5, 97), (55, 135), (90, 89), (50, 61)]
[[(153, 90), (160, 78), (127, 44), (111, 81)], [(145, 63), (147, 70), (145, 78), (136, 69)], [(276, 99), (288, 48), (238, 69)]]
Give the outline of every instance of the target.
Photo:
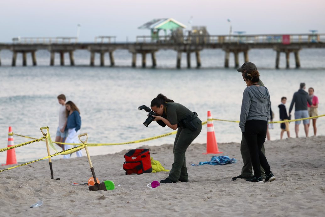
[[(299, 51), (304, 48), (325, 48), (325, 34), (265, 34), (265, 35), (164, 35), (137, 36), (135, 42), (116, 42), (115, 36), (98, 36), (95, 42), (78, 42), (77, 37), (29, 37), (13, 39), (12, 43), (0, 43), (0, 50), (12, 51), (12, 66), (16, 66), (17, 53), (22, 53), (22, 65), (27, 66), (27, 54), (31, 54), (32, 65), (37, 65), (36, 52), (50, 52), (49, 65), (54, 65), (55, 53), (60, 54), (60, 65), (65, 65), (64, 54), (68, 53), (70, 65), (75, 65), (73, 52), (88, 50), (89, 65), (95, 66), (95, 53), (100, 54), (100, 66), (104, 66), (105, 54), (109, 54), (110, 66), (115, 65), (114, 51), (128, 50), (132, 54), (130, 65), (136, 67), (137, 54), (141, 55), (142, 67), (147, 66), (147, 54), (151, 55), (152, 67), (157, 66), (155, 53), (159, 50), (176, 51), (176, 68), (181, 68), (182, 53), (187, 54), (187, 67), (191, 67), (191, 53), (195, 53), (196, 67), (201, 67), (200, 52), (204, 49), (222, 49), (225, 52), (224, 66), (229, 67), (229, 54), (234, 54), (235, 67), (239, 67), (239, 53), (249, 61), (251, 49), (273, 49), (276, 51), (275, 68), (279, 68), (280, 53), (286, 54), (286, 68), (289, 68), (290, 53), (294, 53), (295, 66), (300, 67)], [(1, 57), (0, 57), (1, 58)], [(1, 59), (0, 59), (1, 65)]]

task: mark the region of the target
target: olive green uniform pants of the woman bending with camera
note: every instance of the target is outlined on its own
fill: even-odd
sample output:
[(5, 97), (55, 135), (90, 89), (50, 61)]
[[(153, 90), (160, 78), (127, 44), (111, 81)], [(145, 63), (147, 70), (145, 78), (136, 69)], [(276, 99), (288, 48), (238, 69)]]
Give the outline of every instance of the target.
[(178, 128), (177, 130), (174, 142), (174, 163), (168, 176), (168, 178), (174, 182), (178, 182), (178, 179), (188, 181), (185, 152), (188, 146), (200, 134), (202, 129), (202, 122), (198, 117), (195, 118), (192, 122), (198, 128), (194, 132), (187, 128)]

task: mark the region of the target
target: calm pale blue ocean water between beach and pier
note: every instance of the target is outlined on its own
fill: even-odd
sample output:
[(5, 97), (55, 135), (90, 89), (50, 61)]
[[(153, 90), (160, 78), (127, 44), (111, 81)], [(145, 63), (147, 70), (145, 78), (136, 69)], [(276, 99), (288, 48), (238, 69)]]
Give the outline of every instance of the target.
[[(87, 51), (75, 52), (76, 66), (50, 67), (49, 53), (38, 51), (37, 64), (33, 67), (28, 56), (27, 67), (21, 66), (18, 55), (17, 67), (11, 67), (12, 53), (0, 52), (0, 147), (7, 146), (8, 126), (18, 134), (41, 137), (40, 127), (48, 126), (54, 140), (58, 127), (59, 104), (57, 96), (64, 93), (67, 100), (75, 102), (81, 111), (81, 132), (88, 133), (88, 142), (115, 143), (128, 142), (171, 132), (156, 123), (145, 127), (142, 123), (147, 113), (136, 107), (150, 105), (151, 100), (163, 93), (167, 97), (196, 111), (202, 121), (207, 111), (213, 118), (239, 120), (242, 93), (246, 87), (241, 74), (234, 69), (233, 56), (230, 56), (230, 68), (223, 68), (224, 52), (204, 50), (201, 52), (202, 68), (195, 68), (195, 56), (192, 55), (193, 68), (186, 68), (186, 56), (182, 57), (182, 69), (175, 69), (176, 52), (162, 50), (157, 52), (157, 68), (152, 69), (150, 56), (147, 56), (147, 68), (140, 67), (141, 56), (137, 57), (137, 68), (131, 68), (131, 54), (116, 51), (116, 67), (109, 67), (108, 54), (105, 67), (99, 67), (96, 56), (95, 67), (89, 67), (90, 54)], [(299, 83), (313, 87), (319, 98), (318, 114), (325, 114), (325, 50), (304, 49), (300, 52), (301, 68), (294, 69), (293, 54), (291, 69), (285, 69), (285, 57), (282, 54), (279, 70), (274, 69), (276, 53), (273, 50), (251, 50), (250, 61), (254, 62), (261, 74), (260, 78), (269, 89), (274, 120), (279, 120), (278, 104), (282, 96), (288, 98), (289, 109), (292, 95), (299, 89)], [(240, 56), (240, 64), (243, 56)], [(292, 112), (293, 114), (293, 112)], [(325, 117), (317, 120), (318, 135), (325, 134)], [(240, 142), (241, 133), (238, 123), (214, 121), (217, 142)], [(294, 124), (290, 124), (291, 136)], [(312, 129), (309, 130), (313, 135)], [(271, 140), (279, 139), (279, 124), (270, 130)], [(300, 125), (300, 136), (305, 136)], [(90, 147), (93, 155), (119, 152), (123, 149), (143, 145), (161, 145), (173, 143), (175, 135), (153, 141), (117, 146)], [(284, 135), (286, 138), (286, 135)], [(29, 139), (14, 136), (15, 144)], [(206, 126), (194, 142), (206, 142)], [(222, 150), (221, 150), (222, 151)], [(51, 151), (52, 153), (52, 151)], [(84, 153), (85, 154), (85, 153)], [(45, 142), (36, 142), (16, 148), (17, 160), (25, 162), (47, 156)], [(60, 158), (56, 156), (54, 159)], [(6, 152), (0, 153), (0, 163), (6, 161)], [(121, 162), (123, 159), (121, 158)]]

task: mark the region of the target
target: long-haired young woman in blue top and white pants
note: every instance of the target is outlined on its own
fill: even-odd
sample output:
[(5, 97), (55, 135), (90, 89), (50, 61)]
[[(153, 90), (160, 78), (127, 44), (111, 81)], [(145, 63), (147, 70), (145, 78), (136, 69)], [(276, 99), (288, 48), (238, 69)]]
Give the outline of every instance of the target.
[[(68, 101), (65, 103), (66, 106), (66, 116), (67, 116), (67, 126), (66, 130), (68, 130), (68, 137), (66, 139), (66, 143), (79, 143), (78, 134), (80, 134), (81, 128), (81, 117), (78, 107), (72, 102)], [(64, 145), (65, 150), (69, 148), (73, 148), (76, 146), (72, 145)], [(78, 157), (82, 157), (82, 152), (76, 152)], [(70, 158), (71, 155), (64, 155), (63, 158)]]

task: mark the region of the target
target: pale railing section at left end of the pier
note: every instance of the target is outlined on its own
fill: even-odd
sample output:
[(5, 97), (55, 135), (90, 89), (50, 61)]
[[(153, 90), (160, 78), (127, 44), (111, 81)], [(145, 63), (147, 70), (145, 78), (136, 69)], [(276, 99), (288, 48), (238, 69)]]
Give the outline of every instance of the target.
[(73, 44), (78, 42), (78, 37), (17, 37), (13, 38), (14, 44)]

